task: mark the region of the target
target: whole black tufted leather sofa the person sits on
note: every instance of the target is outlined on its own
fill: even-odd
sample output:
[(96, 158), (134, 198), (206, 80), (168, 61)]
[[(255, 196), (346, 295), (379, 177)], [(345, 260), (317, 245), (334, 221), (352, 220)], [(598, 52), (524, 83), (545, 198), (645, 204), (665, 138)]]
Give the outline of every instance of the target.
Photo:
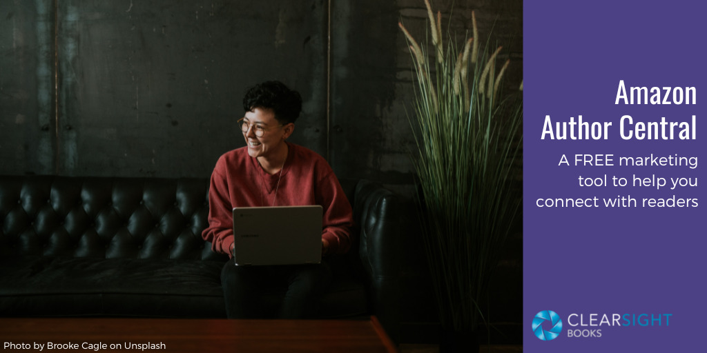
[[(320, 317), (376, 315), (395, 339), (399, 198), (371, 181), (341, 185), (356, 246), (335, 259)], [(201, 239), (208, 187), (208, 179), (0, 176), (0, 316), (225, 317), (227, 258)]]

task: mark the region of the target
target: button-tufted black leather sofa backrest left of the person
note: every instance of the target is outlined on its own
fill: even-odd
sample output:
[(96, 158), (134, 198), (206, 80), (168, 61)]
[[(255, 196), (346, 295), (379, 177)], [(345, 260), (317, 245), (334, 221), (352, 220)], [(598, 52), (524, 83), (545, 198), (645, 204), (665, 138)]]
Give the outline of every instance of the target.
[(0, 256), (223, 260), (208, 179), (0, 177)]

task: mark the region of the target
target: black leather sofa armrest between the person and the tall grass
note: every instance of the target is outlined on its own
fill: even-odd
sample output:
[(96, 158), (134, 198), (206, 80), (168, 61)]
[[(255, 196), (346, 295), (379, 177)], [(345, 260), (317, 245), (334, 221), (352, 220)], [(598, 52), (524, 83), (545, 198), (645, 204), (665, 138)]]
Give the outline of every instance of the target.
[(397, 341), (400, 316), (402, 200), (373, 181), (356, 185), (354, 214), (360, 233), (359, 257), (370, 276), (373, 313)]

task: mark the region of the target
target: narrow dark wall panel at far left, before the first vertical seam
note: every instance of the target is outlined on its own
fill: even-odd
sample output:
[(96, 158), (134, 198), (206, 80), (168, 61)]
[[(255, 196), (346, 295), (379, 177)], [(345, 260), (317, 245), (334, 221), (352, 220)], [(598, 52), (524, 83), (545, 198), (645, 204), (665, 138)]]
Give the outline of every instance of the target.
[(0, 1), (0, 173), (52, 174), (54, 11), (51, 1)]

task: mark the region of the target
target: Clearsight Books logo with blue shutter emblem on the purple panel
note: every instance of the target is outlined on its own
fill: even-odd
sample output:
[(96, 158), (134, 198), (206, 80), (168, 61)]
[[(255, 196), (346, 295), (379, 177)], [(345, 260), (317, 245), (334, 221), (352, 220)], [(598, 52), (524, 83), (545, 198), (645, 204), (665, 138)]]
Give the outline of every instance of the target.
[(532, 319), (532, 331), (539, 340), (550, 341), (563, 335), (567, 337), (602, 337), (602, 328), (667, 328), (672, 313), (571, 313), (565, 321), (551, 310), (540, 311)]

